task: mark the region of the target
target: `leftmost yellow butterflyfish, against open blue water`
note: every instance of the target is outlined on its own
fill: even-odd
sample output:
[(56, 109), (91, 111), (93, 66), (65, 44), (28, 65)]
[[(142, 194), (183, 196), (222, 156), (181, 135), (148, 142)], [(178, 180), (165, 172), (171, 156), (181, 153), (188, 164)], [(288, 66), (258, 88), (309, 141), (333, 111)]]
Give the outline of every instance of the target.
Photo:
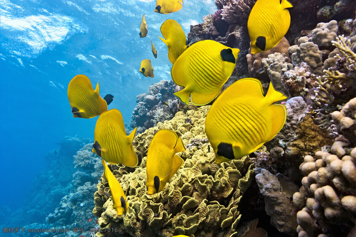
[(108, 110), (112, 95), (103, 98), (99, 95), (99, 82), (95, 91), (89, 78), (85, 75), (77, 75), (70, 80), (68, 85), (68, 100), (74, 118), (93, 118)]

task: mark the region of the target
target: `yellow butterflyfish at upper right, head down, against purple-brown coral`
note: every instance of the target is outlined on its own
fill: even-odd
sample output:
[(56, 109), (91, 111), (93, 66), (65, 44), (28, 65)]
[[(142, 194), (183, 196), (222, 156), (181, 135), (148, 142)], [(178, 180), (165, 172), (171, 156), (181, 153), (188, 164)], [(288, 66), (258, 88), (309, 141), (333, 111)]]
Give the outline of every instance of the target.
[(292, 7), (287, 0), (257, 0), (248, 16), (251, 54), (272, 49), (287, 33)]

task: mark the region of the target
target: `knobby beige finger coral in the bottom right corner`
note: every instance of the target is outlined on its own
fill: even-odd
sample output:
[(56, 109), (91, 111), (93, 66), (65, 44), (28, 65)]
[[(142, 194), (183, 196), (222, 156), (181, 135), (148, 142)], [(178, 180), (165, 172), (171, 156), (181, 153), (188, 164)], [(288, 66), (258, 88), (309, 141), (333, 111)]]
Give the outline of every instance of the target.
[(346, 236), (355, 223), (356, 149), (351, 149), (346, 139), (336, 139), (331, 153), (304, 157), (303, 185), (293, 195), (300, 237)]

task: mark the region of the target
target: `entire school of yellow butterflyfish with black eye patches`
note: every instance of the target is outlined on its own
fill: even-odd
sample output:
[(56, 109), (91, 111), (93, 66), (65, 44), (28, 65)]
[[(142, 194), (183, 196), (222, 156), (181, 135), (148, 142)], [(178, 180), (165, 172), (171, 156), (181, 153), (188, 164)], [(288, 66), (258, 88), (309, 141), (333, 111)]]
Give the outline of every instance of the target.
[[(154, 12), (169, 14), (179, 11), (183, 0), (157, 0)], [(257, 0), (247, 21), (251, 39), (251, 54), (273, 48), (283, 38), (290, 25), (287, 0)], [(263, 24), (261, 19), (265, 19)], [(147, 36), (145, 15), (140, 26), (140, 38)], [(173, 64), (171, 76), (174, 83), (184, 87), (174, 93), (184, 104), (192, 102), (202, 106), (220, 94), (223, 85), (236, 67), (239, 49), (227, 47), (212, 40), (191, 45), (180, 24), (172, 19), (162, 23), (159, 37), (166, 45), (168, 59)], [(152, 53), (157, 50), (151, 40)], [(145, 77), (153, 77), (151, 60), (141, 61), (140, 70)], [(129, 208), (126, 194), (110, 171), (106, 162), (129, 167), (138, 165), (132, 146), (136, 135), (133, 129), (127, 136), (122, 115), (108, 105), (114, 96), (99, 95), (99, 82), (93, 89), (87, 76), (77, 75), (68, 85), (68, 100), (75, 118), (99, 118), (95, 125), (93, 152), (102, 158), (104, 176), (108, 180), (111, 200), (117, 215)], [(287, 111), (278, 101), (287, 97), (272, 85), (264, 95), (262, 84), (254, 78), (244, 78), (227, 87), (211, 106), (205, 121), (205, 132), (215, 153), (215, 162), (241, 159), (271, 140), (286, 122)], [(171, 130), (159, 130), (147, 152), (147, 193), (159, 193), (183, 165), (176, 155), (185, 151), (182, 139)], [(126, 189), (127, 191), (127, 189)], [(176, 237), (183, 237), (178, 235)]]

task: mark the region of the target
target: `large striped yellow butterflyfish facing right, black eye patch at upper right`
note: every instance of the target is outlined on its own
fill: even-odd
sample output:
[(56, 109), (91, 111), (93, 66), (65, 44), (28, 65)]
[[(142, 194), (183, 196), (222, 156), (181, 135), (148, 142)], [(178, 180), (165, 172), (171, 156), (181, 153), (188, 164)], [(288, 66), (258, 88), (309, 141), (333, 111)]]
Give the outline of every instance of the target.
[(185, 87), (174, 95), (184, 104), (189, 103), (189, 96), (195, 105), (209, 103), (234, 71), (239, 52), (212, 40), (193, 44), (172, 66), (172, 80)]

